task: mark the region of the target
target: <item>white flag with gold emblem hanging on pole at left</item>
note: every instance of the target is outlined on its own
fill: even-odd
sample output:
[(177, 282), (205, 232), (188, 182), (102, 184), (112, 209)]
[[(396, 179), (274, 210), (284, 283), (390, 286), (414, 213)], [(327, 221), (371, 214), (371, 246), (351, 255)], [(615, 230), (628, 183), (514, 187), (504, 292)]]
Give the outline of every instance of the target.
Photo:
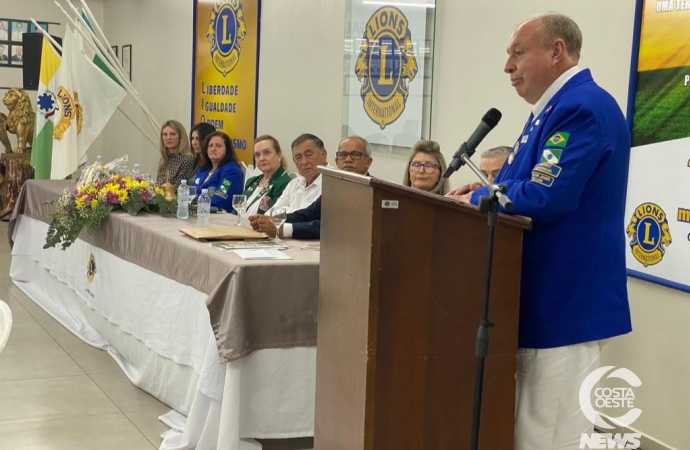
[(53, 130), (51, 178), (64, 178), (86, 162), (86, 150), (127, 92), (81, 51), (68, 27), (57, 73), (60, 110)]

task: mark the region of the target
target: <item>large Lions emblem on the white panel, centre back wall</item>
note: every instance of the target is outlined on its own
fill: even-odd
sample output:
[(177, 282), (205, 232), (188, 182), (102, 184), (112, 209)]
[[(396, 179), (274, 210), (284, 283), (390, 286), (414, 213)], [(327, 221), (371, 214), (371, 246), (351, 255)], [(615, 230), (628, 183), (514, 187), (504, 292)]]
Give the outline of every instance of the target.
[(367, 22), (355, 65), (364, 110), (382, 130), (405, 110), (409, 83), (417, 76), (408, 25), (398, 8), (379, 8)]

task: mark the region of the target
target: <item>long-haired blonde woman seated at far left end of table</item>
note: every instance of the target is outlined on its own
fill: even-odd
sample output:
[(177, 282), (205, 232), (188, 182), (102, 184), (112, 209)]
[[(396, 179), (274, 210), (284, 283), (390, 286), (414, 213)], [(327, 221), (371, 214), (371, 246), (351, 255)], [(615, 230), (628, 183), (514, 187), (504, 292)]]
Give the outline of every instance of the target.
[(166, 181), (175, 186), (175, 191), (182, 180), (189, 177), (194, 169), (194, 156), (189, 149), (187, 132), (177, 120), (168, 120), (161, 128), (161, 160), (158, 163), (156, 183), (163, 185)]

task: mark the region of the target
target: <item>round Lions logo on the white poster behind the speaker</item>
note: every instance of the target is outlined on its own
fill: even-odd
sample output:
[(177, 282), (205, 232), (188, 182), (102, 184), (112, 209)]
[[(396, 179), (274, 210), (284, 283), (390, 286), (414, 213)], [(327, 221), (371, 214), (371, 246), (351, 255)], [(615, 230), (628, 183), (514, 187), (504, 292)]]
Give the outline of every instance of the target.
[(645, 267), (661, 261), (666, 247), (673, 242), (666, 213), (654, 203), (638, 206), (625, 232), (630, 237), (633, 256)]

